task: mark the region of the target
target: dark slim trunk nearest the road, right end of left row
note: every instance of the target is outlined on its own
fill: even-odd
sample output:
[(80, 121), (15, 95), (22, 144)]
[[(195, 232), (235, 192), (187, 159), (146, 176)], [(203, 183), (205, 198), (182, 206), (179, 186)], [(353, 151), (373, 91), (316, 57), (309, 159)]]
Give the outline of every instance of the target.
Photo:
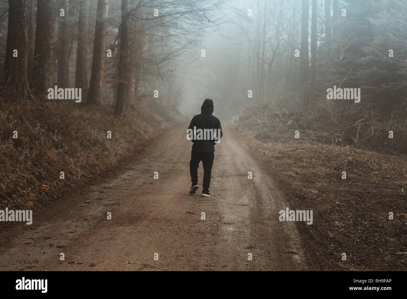
[(127, 63), (129, 46), (129, 7), (127, 0), (122, 0), (122, 23), (120, 25), (120, 57), (119, 57), (119, 72), (117, 84), (117, 99), (116, 108), (114, 109), (115, 115), (120, 115), (123, 112), (123, 105), (126, 97), (127, 85)]

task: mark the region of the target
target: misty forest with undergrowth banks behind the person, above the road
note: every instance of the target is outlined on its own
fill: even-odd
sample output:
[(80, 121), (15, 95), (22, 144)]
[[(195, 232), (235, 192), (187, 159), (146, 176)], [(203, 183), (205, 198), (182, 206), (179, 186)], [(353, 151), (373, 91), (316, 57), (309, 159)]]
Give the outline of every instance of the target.
[[(405, 155), (406, 11), (404, 0), (3, 1), (2, 201), (58, 184), (48, 174), (61, 160), (76, 178), (115, 162), (208, 94), (260, 139), (300, 129)], [(102, 127), (120, 131), (113, 148)]]

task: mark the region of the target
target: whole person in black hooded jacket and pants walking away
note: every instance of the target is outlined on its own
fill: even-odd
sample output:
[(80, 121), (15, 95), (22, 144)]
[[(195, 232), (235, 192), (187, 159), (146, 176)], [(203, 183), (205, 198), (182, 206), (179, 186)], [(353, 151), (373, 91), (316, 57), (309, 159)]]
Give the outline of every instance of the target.
[(195, 115), (188, 127), (188, 139), (194, 144), (191, 151), (189, 170), (192, 187), (190, 194), (195, 194), (198, 186), (198, 166), (202, 161), (204, 167), (204, 182), (202, 184), (202, 196), (210, 196), (209, 185), (214, 160), (215, 144), (220, 142), (223, 135), (221, 122), (213, 113), (213, 101), (209, 98), (204, 100), (201, 106), (201, 114)]

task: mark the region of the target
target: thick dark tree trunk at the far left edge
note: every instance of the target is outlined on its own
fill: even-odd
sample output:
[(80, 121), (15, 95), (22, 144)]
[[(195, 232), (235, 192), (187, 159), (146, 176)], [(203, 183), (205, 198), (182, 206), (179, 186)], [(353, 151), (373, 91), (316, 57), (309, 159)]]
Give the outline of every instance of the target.
[[(28, 12), (28, 0), (9, 0), (4, 85), (18, 98), (25, 98), (28, 92)], [(13, 56), (14, 50), (17, 57)]]

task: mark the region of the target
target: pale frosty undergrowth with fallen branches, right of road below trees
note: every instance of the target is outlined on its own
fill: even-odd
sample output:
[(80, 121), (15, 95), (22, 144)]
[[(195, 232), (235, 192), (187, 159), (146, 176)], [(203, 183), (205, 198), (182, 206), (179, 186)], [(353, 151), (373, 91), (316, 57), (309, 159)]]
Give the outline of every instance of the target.
[[(313, 111), (288, 112), (284, 109), (247, 107), (238, 128), (258, 140), (282, 141), (300, 131), (301, 138), (323, 144), (353, 146), (407, 157), (407, 107), (378, 112), (366, 108), (338, 108), (328, 113), (320, 105)], [(389, 138), (389, 131), (394, 137)]]

